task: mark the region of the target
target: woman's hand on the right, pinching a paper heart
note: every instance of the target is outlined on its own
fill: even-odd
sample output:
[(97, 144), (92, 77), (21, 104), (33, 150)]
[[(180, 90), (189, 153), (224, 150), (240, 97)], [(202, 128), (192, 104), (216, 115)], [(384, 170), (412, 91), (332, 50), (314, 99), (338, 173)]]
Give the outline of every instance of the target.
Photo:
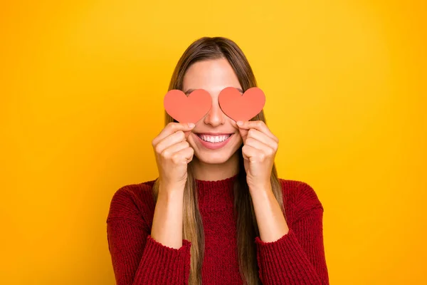
[(270, 189), (271, 170), (279, 139), (262, 120), (244, 121), (237, 125), (243, 139), (242, 154), (249, 189)]

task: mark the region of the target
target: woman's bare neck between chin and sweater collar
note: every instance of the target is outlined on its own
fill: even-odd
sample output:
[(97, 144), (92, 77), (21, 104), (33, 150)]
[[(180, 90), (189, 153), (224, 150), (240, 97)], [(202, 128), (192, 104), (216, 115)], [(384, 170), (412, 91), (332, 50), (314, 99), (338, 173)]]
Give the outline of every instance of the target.
[(196, 156), (194, 156), (192, 167), (194, 171), (194, 177), (197, 180), (224, 180), (238, 173), (238, 152), (235, 152), (226, 162), (216, 165), (202, 162)]

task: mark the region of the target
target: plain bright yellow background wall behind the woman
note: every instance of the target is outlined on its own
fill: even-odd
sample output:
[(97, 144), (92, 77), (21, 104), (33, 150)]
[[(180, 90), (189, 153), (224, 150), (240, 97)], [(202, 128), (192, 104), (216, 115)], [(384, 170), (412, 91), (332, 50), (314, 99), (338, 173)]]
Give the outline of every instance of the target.
[(330, 283), (427, 284), (426, 1), (3, 2), (1, 284), (115, 283), (110, 199), (157, 177), (162, 99), (201, 36), (246, 53), (280, 177), (325, 207)]

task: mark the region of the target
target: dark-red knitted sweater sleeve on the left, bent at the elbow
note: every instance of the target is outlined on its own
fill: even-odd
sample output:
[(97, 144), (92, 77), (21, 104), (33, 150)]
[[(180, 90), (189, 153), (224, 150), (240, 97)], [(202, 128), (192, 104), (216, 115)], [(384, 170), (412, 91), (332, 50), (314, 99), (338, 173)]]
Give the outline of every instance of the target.
[(107, 242), (117, 285), (188, 284), (191, 242), (174, 249), (152, 239), (132, 195), (119, 190), (107, 218)]

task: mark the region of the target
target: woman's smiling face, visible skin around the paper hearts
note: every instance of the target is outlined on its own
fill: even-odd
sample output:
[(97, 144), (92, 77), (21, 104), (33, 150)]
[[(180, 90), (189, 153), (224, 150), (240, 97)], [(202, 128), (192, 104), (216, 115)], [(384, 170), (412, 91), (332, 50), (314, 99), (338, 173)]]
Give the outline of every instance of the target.
[(226, 162), (243, 140), (234, 120), (223, 113), (218, 104), (218, 95), (226, 87), (237, 88), (243, 93), (236, 73), (226, 58), (198, 61), (184, 75), (183, 90), (189, 95), (192, 90), (204, 89), (211, 94), (212, 107), (187, 138), (194, 155), (204, 163)]

